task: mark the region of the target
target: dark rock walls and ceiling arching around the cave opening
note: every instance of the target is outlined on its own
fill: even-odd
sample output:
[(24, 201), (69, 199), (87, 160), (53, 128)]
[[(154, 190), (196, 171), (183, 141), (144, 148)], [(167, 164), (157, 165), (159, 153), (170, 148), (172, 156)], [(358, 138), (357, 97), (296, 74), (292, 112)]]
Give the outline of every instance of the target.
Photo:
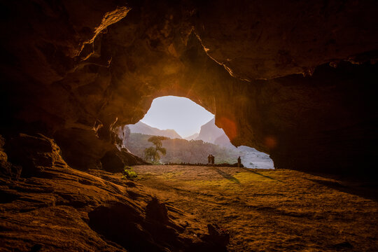
[(1, 134), (43, 133), (72, 167), (101, 167), (109, 151), (130, 157), (114, 145), (118, 127), (137, 123), (155, 97), (178, 95), (276, 168), (372, 172), (376, 9), (374, 1), (1, 3)]

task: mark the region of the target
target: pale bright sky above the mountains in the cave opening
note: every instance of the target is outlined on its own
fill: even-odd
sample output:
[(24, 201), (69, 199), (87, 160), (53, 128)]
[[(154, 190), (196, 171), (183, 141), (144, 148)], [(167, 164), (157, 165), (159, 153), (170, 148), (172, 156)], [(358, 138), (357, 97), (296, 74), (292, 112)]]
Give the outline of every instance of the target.
[(153, 100), (150, 110), (141, 120), (160, 130), (173, 129), (181, 137), (200, 132), (201, 126), (214, 115), (188, 98), (166, 96)]

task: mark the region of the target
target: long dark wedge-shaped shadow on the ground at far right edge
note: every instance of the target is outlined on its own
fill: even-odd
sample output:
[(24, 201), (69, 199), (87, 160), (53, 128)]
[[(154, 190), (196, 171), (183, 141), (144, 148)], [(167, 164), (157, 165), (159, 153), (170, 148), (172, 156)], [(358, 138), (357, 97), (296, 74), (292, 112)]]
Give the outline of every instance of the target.
[(334, 190), (338, 190), (343, 193), (349, 193), (352, 195), (357, 195), (363, 197), (367, 200), (374, 200), (378, 202), (378, 185), (377, 183), (358, 183), (353, 186), (343, 185), (342, 183), (338, 183), (336, 181), (323, 181), (321, 179), (307, 179), (314, 183), (321, 184), (322, 186), (327, 186), (328, 188), (332, 188)]

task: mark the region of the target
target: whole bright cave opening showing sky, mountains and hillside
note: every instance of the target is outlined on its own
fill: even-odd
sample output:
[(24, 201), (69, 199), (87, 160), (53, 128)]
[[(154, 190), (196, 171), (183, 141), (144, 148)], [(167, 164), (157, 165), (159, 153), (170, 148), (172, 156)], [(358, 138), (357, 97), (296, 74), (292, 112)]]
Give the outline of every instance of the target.
[[(214, 114), (185, 97), (154, 99), (144, 118), (127, 127), (130, 134), (125, 139), (125, 146), (148, 162), (207, 164), (211, 154), (216, 165), (235, 164), (240, 156), (244, 167), (274, 169), (273, 161), (266, 153), (248, 146), (233, 146), (225, 132), (215, 125)], [(167, 137), (162, 140), (165, 155), (158, 153), (154, 158), (146, 151), (153, 147), (148, 141), (152, 136)]]

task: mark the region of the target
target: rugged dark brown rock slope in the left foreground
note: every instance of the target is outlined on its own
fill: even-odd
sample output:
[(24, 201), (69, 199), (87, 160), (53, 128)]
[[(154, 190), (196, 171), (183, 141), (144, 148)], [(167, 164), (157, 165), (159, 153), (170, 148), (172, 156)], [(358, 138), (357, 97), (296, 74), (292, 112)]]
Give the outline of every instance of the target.
[(13, 141), (20, 146), (10, 144), (9, 160), (0, 150), (0, 171), (4, 162), (19, 162), (22, 171), (18, 177), (0, 176), (1, 251), (225, 249), (195, 238), (197, 227), (190, 227), (186, 214), (165, 207), (121, 174), (72, 169), (55, 141), (43, 135), (22, 134)]

